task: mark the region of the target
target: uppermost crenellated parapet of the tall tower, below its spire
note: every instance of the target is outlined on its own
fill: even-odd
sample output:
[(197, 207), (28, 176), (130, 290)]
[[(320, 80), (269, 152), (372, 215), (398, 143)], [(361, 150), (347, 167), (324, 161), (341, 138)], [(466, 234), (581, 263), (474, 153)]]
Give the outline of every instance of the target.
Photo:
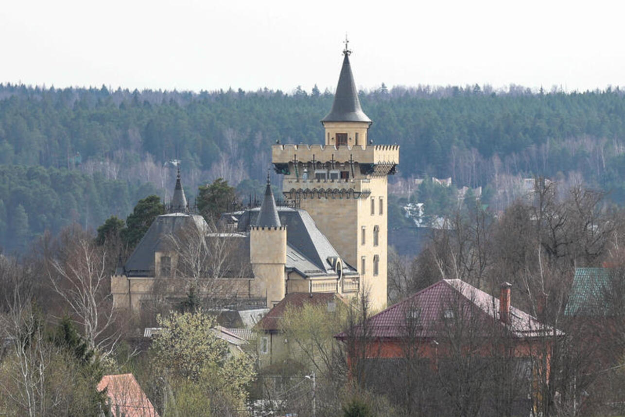
[(271, 146), (274, 164), (302, 163), (399, 164), (399, 145), (336, 146), (324, 144), (278, 144)]

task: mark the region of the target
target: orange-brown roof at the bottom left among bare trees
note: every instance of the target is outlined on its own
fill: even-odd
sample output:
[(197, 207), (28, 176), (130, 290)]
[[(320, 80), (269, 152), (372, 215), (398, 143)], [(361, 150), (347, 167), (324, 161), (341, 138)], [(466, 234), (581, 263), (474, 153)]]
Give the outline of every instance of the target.
[(104, 375), (98, 391), (105, 388), (114, 417), (159, 417), (133, 374)]

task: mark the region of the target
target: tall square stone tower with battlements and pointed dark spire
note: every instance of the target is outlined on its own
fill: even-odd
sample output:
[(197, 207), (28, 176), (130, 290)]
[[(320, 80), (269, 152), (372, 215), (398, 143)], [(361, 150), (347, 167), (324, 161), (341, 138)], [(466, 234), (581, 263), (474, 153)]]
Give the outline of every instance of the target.
[(343, 64), (334, 103), (321, 120), (324, 144), (272, 146), (282, 192), (305, 209), (317, 227), (361, 274), (361, 289), (372, 308), (386, 306), (387, 176), (399, 164), (399, 146), (371, 144), (371, 119), (362, 111), (349, 55)]

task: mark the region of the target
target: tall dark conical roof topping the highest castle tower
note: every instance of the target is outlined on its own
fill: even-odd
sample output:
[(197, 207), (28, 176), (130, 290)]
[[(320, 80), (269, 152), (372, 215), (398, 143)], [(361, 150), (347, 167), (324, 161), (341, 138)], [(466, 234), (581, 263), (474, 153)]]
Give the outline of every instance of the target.
[(364, 114), (360, 106), (356, 83), (354, 83), (354, 76), (351, 73), (351, 66), (349, 65), (349, 53), (347, 49), (343, 51), (345, 58), (343, 58), (341, 75), (339, 76), (339, 83), (336, 86), (336, 93), (334, 94), (334, 103), (332, 103), (330, 113), (321, 119), (322, 122), (371, 123), (371, 119)]

